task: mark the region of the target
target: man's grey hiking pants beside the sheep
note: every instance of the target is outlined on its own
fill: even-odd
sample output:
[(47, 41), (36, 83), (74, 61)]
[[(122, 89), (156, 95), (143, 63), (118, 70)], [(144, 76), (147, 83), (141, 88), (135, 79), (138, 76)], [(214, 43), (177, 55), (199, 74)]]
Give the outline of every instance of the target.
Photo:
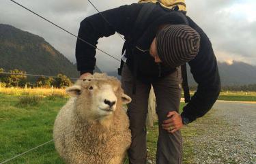
[[(181, 71), (153, 82), (156, 95), (156, 112), (158, 114), (159, 136), (156, 153), (158, 164), (180, 164), (182, 160), (182, 135), (180, 131), (168, 133), (162, 129), (162, 121), (167, 119), (170, 111), (179, 112), (181, 98)], [(136, 94), (132, 94), (132, 73), (127, 65), (122, 70), (122, 88), (132, 98), (128, 104), (128, 116), (132, 131), (132, 144), (128, 150), (130, 164), (145, 164), (147, 161), (146, 127), (147, 101), (151, 84), (137, 80)]]

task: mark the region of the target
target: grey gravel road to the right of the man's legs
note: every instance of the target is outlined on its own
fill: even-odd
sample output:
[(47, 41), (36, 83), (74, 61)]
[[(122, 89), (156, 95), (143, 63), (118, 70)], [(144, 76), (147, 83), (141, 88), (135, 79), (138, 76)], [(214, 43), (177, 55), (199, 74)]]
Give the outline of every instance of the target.
[(191, 163), (256, 163), (256, 103), (218, 101), (203, 118), (186, 128), (196, 129)]

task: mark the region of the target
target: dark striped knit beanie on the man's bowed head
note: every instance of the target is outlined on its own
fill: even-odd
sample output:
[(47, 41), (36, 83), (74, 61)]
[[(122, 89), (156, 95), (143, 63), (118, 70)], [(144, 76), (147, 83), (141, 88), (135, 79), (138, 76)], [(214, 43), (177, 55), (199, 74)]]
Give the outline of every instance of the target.
[(170, 24), (156, 35), (158, 56), (170, 67), (179, 67), (199, 52), (200, 35), (184, 24)]

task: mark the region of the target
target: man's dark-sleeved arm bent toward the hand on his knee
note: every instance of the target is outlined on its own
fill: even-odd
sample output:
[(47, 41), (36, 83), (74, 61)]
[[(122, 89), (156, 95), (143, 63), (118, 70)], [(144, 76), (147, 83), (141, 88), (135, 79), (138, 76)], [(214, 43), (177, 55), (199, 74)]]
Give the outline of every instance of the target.
[(193, 78), (198, 84), (197, 91), (181, 114), (182, 118), (188, 118), (189, 122), (192, 122), (212, 108), (221, 91), (221, 80), (210, 39), (193, 20), (188, 18), (188, 21), (190, 27), (201, 35), (199, 54), (188, 62)]

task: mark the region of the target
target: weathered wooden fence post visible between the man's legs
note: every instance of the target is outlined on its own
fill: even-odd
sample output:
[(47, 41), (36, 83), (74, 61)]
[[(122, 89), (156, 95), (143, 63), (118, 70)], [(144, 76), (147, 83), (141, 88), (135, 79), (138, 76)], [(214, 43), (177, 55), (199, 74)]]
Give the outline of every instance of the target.
[(151, 86), (150, 97), (148, 99), (148, 108), (147, 108), (147, 127), (153, 127), (154, 122), (158, 120), (156, 114), (156, 96), (154, 94), (153, 86)]

